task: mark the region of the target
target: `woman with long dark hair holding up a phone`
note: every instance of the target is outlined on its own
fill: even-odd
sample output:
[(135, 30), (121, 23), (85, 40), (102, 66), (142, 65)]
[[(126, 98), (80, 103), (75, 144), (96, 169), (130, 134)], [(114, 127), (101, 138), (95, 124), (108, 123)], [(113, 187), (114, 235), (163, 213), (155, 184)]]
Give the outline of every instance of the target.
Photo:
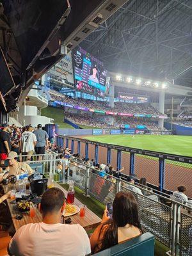
[(141, 236), (141, 224), (138, 205), (134, 195), (119, 192), (113, 201), (113, 217), (108, 217), (108, 210), (103, 214), (100, 225), (90, 237), (92, 252), (100, 252), (118, 243)]

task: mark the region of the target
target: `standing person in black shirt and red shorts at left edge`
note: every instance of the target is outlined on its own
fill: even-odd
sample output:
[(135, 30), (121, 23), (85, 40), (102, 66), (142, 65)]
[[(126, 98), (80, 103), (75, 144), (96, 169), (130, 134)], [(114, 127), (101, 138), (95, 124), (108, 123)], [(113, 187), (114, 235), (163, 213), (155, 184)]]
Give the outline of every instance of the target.
[(0, 161), (4, 164), (4, 160), (7, 159), (8, 153), (11, 149), (10, 136), (8, 134), (8, 125), (1, 125), (2, 129), (0, 131)]

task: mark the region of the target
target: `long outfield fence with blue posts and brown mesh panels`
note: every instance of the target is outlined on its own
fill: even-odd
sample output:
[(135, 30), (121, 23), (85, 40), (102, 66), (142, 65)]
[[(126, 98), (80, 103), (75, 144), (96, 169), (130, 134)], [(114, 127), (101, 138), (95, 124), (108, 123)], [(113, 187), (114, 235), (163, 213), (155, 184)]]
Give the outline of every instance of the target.
[(124, 166), (125, 175), (136, 173), (138, 179), (146, 177), (148, 183), (166, 193), (184, 184), (188, 189), (186, 195), (192, 198), (192, 157), (106, 145), (69, 136), (57, 136), (56, 143), (86, 158), (93, 158), (96, 163), (111, 163), (116, 169)]

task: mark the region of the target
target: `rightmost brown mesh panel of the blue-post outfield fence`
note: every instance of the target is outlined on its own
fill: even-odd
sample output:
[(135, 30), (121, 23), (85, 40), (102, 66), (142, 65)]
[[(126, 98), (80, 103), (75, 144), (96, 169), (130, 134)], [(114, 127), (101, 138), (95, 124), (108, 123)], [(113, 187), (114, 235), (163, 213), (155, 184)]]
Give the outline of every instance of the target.
[(165, 160), (164, 188), (177, 191), (179, 185), (186, 186), (186, 195), (192, 197), (192, 164)]

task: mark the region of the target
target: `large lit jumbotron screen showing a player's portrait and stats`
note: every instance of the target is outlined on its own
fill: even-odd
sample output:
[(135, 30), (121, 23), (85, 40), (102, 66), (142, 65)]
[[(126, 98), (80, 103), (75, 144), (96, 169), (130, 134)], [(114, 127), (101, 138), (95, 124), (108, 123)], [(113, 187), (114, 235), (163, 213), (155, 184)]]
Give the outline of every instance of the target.
[(108, 72), (101, 61), (81, 47), (72, 52), (72, 59), (75, 86), (78, 90), (101, 97), (109, 93), (109, 83), (106, 83)]

